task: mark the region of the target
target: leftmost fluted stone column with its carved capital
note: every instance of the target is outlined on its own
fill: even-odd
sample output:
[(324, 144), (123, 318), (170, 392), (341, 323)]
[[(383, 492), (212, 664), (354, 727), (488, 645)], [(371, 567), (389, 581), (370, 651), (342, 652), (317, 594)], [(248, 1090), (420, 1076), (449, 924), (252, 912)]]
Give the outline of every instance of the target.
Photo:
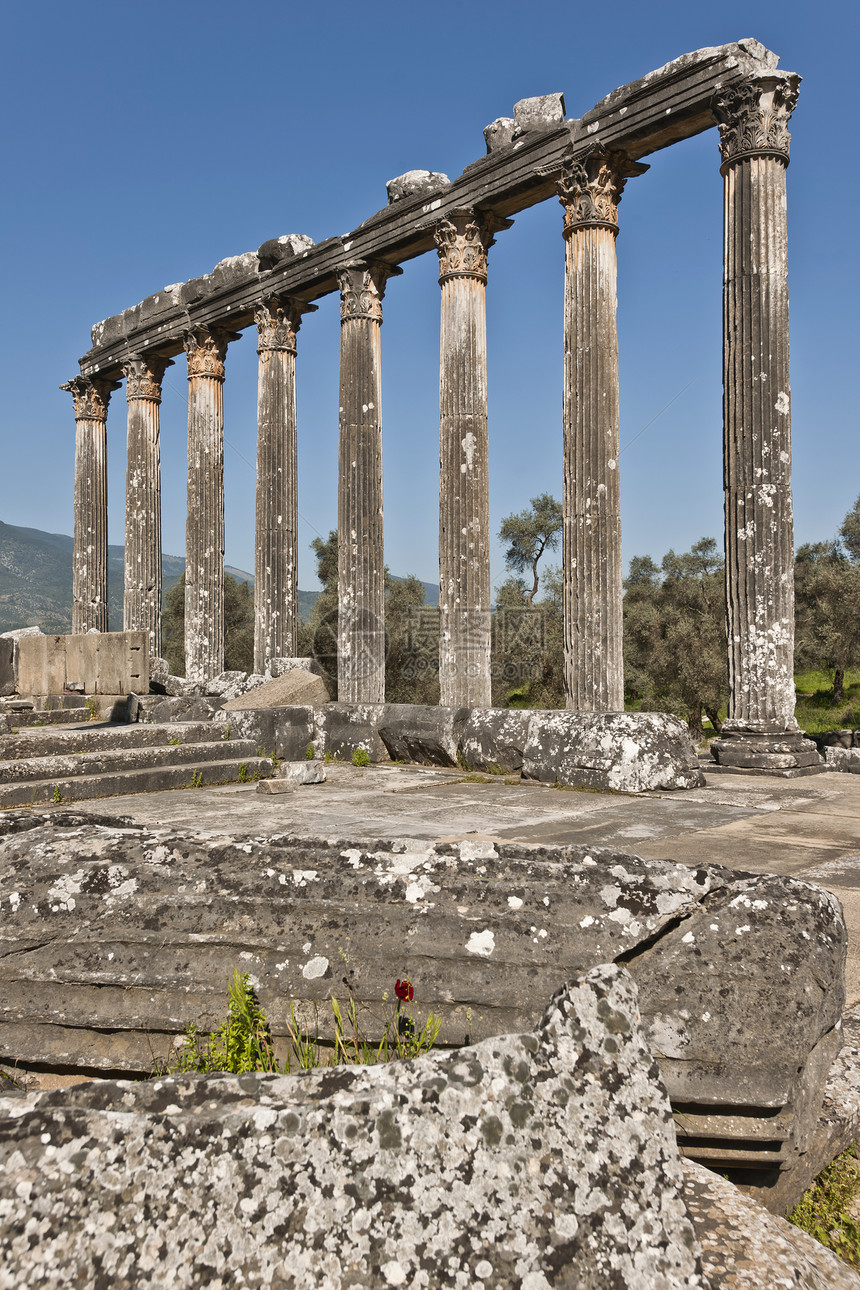
[(107, 631), (107, 405), (119, 381), (73, 377), (75, 538), (72, 632)]

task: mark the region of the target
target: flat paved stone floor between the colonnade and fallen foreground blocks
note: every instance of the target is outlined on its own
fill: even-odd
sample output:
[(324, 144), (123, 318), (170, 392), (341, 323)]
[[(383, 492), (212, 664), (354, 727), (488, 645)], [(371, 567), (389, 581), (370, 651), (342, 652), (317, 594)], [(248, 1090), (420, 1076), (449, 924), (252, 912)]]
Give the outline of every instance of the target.
[(210, 836), (295, 833), (612, 846), (650, 859), (725, 864), (817, 882), (843, 903), (848, 1005), (860, 1002), (860, 775), (705, 774), (705, 787), (642, 796), (581, 792), (416, 766), (326, 768), (290, 793), (255, 784), (83, 802), (75, 809)]

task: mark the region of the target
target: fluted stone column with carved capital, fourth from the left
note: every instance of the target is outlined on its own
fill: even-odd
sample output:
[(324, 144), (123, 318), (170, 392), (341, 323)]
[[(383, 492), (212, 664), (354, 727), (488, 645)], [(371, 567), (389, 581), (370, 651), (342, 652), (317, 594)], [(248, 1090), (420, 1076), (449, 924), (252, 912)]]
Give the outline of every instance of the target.
[(273, 295), (254, 315), (259, 333), (255, 672), (266, 672), (273, 658), (294, 658), (298, 649), (295, 333), (311, 310), (316, 304)]

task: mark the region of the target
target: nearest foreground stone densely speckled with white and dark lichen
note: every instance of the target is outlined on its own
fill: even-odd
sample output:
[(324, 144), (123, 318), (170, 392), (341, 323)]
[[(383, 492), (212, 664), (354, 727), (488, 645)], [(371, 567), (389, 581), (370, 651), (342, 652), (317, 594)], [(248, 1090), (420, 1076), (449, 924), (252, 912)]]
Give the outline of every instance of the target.
[(5, 1286), (707, 1285), (615, 966), (560, 988), (536, 1029), (465, 1050), (0, 1106)]

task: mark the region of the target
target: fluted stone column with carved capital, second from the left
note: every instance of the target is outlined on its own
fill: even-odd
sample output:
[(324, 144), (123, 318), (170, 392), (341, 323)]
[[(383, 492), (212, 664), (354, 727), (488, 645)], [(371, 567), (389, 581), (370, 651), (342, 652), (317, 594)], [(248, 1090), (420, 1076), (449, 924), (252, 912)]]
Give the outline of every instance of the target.
[(150, 633), (161, 658), (161, 379), (171, 359), (137, 355), (124, 365), (129, 404), (125, 476), (125, 591), (122, 628)]

